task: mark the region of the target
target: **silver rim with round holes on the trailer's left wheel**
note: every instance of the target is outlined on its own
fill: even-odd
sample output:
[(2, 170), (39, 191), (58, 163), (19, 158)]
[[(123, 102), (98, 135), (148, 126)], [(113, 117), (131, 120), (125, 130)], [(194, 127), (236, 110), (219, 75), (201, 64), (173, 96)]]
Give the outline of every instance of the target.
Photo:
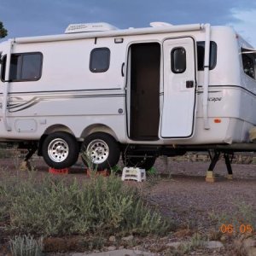
[(55, 162), (62, 162), (67, 159), (69, 148), (67, 142), (61, 138), (55, 138), (49, 143), (48, 155)]

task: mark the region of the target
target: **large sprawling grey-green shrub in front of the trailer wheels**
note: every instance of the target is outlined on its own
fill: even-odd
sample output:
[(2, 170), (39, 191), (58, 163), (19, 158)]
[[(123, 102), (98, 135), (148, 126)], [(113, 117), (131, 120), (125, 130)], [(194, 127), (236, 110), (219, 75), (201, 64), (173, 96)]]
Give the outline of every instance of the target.
[(168, 223), (153, 212), (135, 189), (127, 188), (119, 177), (91, 177), (78, 183), (44, 177), (37, 181), (0, 183), (0, 203), (5, 204), (12, 229), (44, 236), (70, 234), (128, 233), (162, 234)]

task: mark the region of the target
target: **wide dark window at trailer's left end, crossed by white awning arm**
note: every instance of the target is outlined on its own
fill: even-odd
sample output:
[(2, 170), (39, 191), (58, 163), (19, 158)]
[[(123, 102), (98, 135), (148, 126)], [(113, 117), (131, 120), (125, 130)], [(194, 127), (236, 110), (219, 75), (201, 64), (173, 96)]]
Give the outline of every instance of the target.
[[(1, 79), (4, 80), (6, 56), (4, 56)], [(22, 53), (11, 55), (9, 80), (11, 82), (37, 81), (42, 74), (43, 55)]]

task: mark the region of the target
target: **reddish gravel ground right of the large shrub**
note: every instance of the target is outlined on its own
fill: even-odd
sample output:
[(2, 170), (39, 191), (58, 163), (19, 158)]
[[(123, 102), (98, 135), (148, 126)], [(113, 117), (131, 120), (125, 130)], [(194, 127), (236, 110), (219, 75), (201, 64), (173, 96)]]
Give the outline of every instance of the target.
[(177, 162), (158, 160), (159, 172), (169, 170), (171, 179), (163, 180), (150, 189), (148, 199), (160, 206), (161, 212), (179, 223), (210, 225), (211, 213), (237, 212), (237, 205), (256, 210), (256, 165), (233, 164), (233, 180), (226, 178), (223, 160), (215, 167), (215, 183), (207, 183), (208, 162)]

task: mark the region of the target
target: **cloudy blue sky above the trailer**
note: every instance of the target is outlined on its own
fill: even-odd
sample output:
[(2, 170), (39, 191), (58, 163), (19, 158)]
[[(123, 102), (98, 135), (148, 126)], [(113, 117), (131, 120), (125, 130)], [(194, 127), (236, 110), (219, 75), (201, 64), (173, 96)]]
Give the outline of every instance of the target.
[(0, 0), (9, 38), (60, 34), (71, 23), (108, 22), (119, 28), (151, 21), (233, 26), (256, 47), (255, 0)]

